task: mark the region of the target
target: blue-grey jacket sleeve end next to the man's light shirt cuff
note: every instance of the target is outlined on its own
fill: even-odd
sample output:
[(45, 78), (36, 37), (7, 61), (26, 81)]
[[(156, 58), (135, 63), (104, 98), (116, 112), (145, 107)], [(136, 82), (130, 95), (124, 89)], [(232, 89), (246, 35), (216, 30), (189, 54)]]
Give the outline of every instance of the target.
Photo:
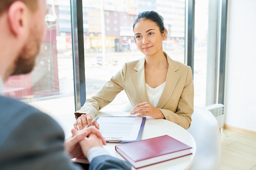
[(102, 155), (92, 159), (89, 170), (131, 170), (130, 163), (112, 157), (110, 155)]

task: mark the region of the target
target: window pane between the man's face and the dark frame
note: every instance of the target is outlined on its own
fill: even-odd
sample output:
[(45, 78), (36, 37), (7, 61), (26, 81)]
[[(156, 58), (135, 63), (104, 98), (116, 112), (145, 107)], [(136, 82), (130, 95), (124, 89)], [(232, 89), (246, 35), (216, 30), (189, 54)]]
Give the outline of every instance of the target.
[(9, 77), (4, 94), (49, 115), (74, 113), (70, 0), (47, 0), (47, 6), (47, 29), (36, 66), (27, 75)]

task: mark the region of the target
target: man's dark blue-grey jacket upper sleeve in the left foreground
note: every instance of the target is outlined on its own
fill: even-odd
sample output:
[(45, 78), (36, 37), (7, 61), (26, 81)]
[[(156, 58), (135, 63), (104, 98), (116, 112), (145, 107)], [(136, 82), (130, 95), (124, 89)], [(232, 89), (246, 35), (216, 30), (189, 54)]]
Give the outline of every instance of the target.
[[(20, 108), (19, 112), (13, 114), (11, 122), (4, 125), (6, 132), (0, 142), (3, 156), (0, 156), (1, 168), (82, 170), (65, 153), (64, 132), (52, 117), (29, 106), (16, 107)], [(9, 110), (13, 111), (11, 108)]]

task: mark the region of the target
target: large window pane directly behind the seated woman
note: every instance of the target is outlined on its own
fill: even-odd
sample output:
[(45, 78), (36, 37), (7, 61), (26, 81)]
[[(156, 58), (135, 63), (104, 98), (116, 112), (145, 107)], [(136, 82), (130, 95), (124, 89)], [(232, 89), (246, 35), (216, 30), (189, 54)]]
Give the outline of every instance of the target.
[[(83, 15), (88, 23), (84, 28), (87, 99), (125, 62), (143, 57), (135, 44), (132, 26), (138, 13), (151, 10), (162, 15), (168, 30), (164, 51), (184, 63), (185, 0), (83, 0), (83, 11), (88, 11)], [(103, 110), (120, 111), (127, 102), (122, 91)]]

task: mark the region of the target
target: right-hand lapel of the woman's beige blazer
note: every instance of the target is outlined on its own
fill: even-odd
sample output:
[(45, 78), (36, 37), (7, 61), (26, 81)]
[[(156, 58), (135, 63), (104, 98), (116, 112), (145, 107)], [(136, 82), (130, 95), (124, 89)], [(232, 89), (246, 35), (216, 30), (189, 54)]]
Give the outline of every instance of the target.
[(173, 94), (174, 88), (178, 80), (180, 79), (180, 75), (175, 72), (179, 69), (179, 67), (166, 53), (164, 54), (167, 57), (169, 66), (168, 66), (168, 72), (166, 77), (166, 84), (165, 84), (162, 96), (158, 102), (157, 108), (164, 107), (166, 102), (168, 102), (168, 99), (170, 99), (171, 95)]

